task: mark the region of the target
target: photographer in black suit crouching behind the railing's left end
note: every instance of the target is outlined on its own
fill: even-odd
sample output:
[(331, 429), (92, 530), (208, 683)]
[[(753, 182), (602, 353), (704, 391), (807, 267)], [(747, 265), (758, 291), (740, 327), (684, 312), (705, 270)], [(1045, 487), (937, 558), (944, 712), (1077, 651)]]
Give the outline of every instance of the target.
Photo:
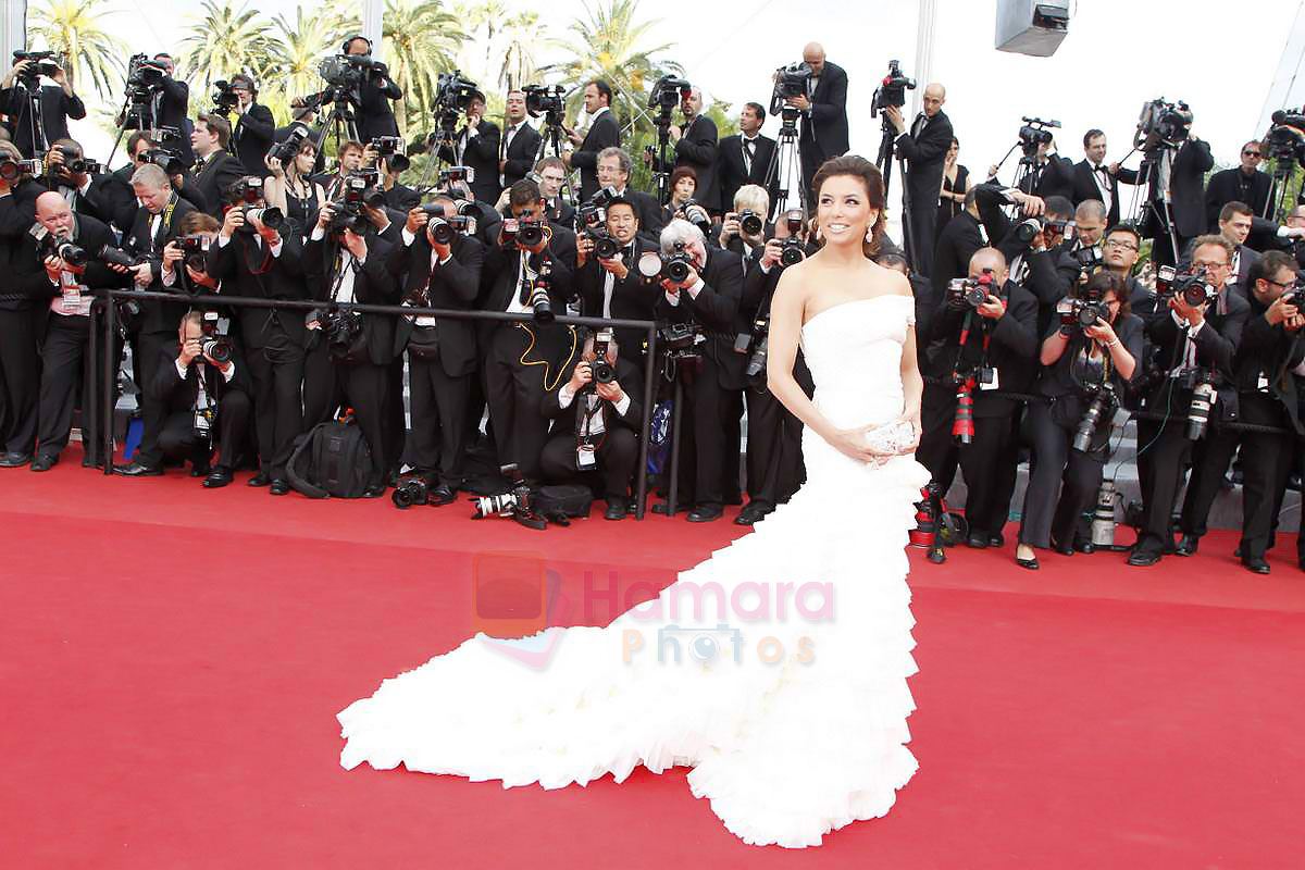
[[(243, 367), (235, 359), (214, 353), (204, 322), (200, 312), (187, 312), (181, 318), (179, 348), (161, 348), (147, 394), (163, 408), (159, 455), (189, 459), (191, 476), (204, 476), (204, 487), (214, 489), (231, 481), (235, 463), (244, 453), (249, 389)], [(210, 468), (214, 436), (222, 445), (222, 455)]]

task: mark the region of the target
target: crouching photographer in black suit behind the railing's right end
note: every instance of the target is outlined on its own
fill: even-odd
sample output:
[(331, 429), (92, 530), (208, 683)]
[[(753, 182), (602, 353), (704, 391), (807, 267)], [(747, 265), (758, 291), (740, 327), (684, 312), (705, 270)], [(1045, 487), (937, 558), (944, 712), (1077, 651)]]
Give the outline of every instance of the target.
[(638, 383), (638, 370), (617, 352), (611, 329), (589, 337), (570, 381), (544, 394), (540, 407), (553, 420), (539, 458), (544, 480), (565, 483), (598, 471), (607, 500), (604, 519), (624, 519), (629, 513), (630, 477), (639, 458), (638, 432), (643, 424), (642, 406), (621, 386), (621, 381)]

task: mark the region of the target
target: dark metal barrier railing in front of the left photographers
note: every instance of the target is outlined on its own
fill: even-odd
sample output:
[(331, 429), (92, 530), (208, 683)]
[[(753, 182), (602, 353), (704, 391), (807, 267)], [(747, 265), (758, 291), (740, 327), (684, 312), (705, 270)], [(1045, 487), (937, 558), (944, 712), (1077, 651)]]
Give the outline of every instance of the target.
[[(324, 303), (320, 300), (281, 300), (281, 299), (253, 299), (248, 296), (226, 296), (218, 293), (175, 293), (175, 292), (159, 292), (150, 290), (110, 290), (107, 296), (111, 304), (104, 305), (102, 317), (102, 340), (103, 347), (93, 348), (93, 352), (100, 353), (102, 373), (103, 378), (103, 406), (100, 408), (100, 454), (104, 457), (104, 473), (110, 475), (114, 471), (112, 455), (114, 455), (114, 404), (116, 394), (116, 377), (117, 377), (117, 351), (115, 335), (117, 334), (117, 307), (112, 301), (120, 299), (134, 299), (140, 301), (168, 301), (168, 303), (184, 303), (187, 305), (202, 305), (205, 308), (210, 307), (231, 307), (231, 308), (274, 308), (281, 310), (298, 310), (298, 312), (311, 312), (313, 309), (321, 309), (330, 303)], [(482, 312), (482, 310), (458, 310), (458, 309), (444, 309), (444, 308), (412, 308), (407, 305), (368, 305), (363, 303), (338, 303), (330, 304), (335, 308), (355, 310), (361, 314), (386, 314), (393, 317), (408, 316), (408, 317), (441, 317), (446, 320), (470, 320), (470, 321), (500, 321), (500, 322), (534, 322), (531, 314), (510, 314), (508, 312)], [(617, 318), (603, 318), (603, 317), (572, 317), (559, 314), (556, 321), (564, 326), (613, 326), (620, 329), (642, 329), (647, 333), (647, 353), (646, 365), (643, 369), (643, 421), (641, 427), (639, 438), (639, 468), (638, 468), (638, 483), (636, 485), (636, 502), (634, 502), (634, 518), (643, 519), (645, 501), (647, 497), (647, 451), (649, 451), (649, 434), (652, 424), (652, 408), (655, 399), (655, 386), (654, 376), (656, 373), (656, 365), (654, 364), (656, 359), (656, 323), (654, 321), (641, 321), (641, 320), (617, 320)], [(144, 390), (145, 386), (141, 385)], [(679, 411), (679, 408), (676, 408)], [(679, 415), (676, 415), (679, 420)], [(675, 438), (676, 447), (679, 446), (679, 432), (672, 432), (672, 438)], [(676, 450), (677, 453), (677, 450)], [(673, 473), (673, 472), (672, 472)]]

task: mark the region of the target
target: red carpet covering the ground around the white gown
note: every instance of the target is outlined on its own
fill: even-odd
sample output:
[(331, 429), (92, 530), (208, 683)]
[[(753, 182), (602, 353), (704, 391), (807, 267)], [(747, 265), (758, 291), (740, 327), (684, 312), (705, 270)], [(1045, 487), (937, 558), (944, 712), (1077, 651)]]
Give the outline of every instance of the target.
[(1300, 866), (1295, 540), (1270, 578), (1227, 533), (1150, 570), (914, 560), (920, 772), (887, 818), (792, 853), (743, 845), (683, 770), (505, 792), (338, 766), (335, 712), (471, 633), (474, 553), (538, 553), (566, 621), (606, 623), (586, 573), (590, 599), (611, 571), (664, 584), (739, 527), (540, 533), (77, 459), (0, 473), (4, 866)]

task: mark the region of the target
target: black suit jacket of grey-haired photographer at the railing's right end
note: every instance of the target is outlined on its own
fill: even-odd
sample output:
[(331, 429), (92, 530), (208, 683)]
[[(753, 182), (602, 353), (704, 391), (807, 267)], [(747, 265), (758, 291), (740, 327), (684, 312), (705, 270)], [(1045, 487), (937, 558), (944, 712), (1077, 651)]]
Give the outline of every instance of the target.
[(733, 339), (741, 329), (752, 329), (748, 318), (756, 308), (756, 304), (744, 304), (743, 263), (736, 253), (707, 248), (707, 263), (701, 275), (703, 287), (697, 299), (681, 290), (677, 305), (667, 301), (660, 284), (654, 286), (658, 320), (702, 326), (707, 335), (703, 355), (715, 363), (716, 382), (726, 390), (743, 390), (748, 386), (748, 360), (735, 353)]

